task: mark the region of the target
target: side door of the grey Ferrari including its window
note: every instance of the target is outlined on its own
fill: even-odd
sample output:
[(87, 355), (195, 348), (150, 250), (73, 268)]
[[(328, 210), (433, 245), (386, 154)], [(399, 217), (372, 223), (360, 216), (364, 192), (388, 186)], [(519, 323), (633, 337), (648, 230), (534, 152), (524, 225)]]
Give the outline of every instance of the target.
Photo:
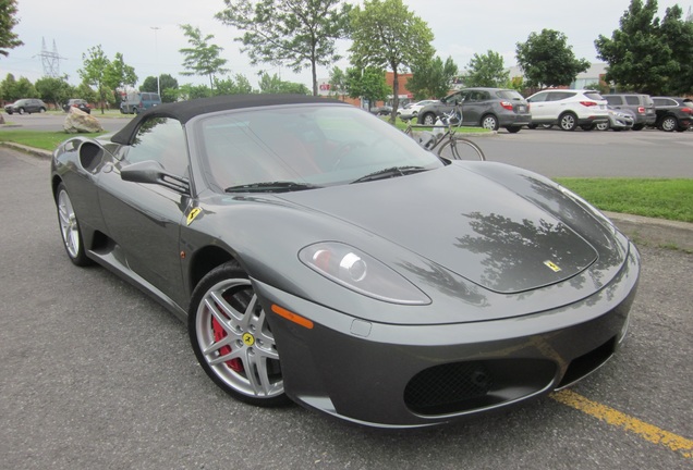
[(168, 187), (126, 182), (120, 171), (136, 162), (155, 161), (178, 176), (189, 175), (183, 127), (170, 118), (150, 118), (134, 143), (123, 146), (112, 171), (99, 177), (99, 202), (110, 237), (121, 248), (125, 265), (183, 306), (180, 226), (190, 197)]

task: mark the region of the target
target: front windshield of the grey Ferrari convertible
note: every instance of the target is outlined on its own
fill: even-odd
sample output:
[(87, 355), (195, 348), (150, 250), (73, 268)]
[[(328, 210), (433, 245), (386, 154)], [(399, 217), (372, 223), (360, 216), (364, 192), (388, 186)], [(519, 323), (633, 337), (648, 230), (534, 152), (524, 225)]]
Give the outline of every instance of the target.
[(305, 190), (365, 181), (388, 169), (420, 172), (445, 164), (401, 131), (350, 106), (226, 112), (194, 128), (206, 176), (218, 190)]

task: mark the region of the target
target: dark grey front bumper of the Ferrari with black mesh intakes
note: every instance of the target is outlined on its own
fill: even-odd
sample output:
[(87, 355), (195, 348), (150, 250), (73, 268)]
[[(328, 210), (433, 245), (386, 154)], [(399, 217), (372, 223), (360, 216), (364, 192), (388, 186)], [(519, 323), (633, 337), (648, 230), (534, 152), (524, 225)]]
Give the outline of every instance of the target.
[(631, 245), (619, 274), (581, 301), (445, 325), (369, 322), (254, 286), (266, 312), (277, 304), (314, 322), (308, 330), (268, 313), (294, 401), (361, 424), (412, 428), (536, 397), (599, 368), (625, 335), (639, 267)]

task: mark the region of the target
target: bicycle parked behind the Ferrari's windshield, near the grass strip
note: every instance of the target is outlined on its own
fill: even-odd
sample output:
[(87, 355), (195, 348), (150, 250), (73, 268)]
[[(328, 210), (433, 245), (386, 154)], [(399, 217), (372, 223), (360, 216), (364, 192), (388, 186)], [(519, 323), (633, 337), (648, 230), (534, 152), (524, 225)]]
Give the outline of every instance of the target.
[[(458, 124), (453, 124), (453, 118), (459, 118)], [(412, 118), (414, 119), (414, 118)], [(447, 158), (448, 160), (486, 160), (486, 156), (479, 146), (472, 140), (464, 137), (457, 136), (458, 129), (462, 126), (462, 112), (458, 114), (457, 110), (452, 110), (449, 113), (443, 113), (438, 118), (434, 128), (445, 128), (438, 133), (423, 132), (418, 137), (418, 144), (427, 150), (435, 151), (438, 149), (438, 157)], [(414, 138), (413, 129), (416, 127), (430, 127), (425, 125), (415, 125), (409, 121), (404, 134)], [(462, 145), (458, 145), (462, 144)]]

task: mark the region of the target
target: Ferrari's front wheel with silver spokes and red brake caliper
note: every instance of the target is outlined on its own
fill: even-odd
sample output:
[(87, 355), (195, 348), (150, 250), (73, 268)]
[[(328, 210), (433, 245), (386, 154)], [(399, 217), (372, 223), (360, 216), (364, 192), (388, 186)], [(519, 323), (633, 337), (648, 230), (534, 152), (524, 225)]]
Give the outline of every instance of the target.
[(289, 401), (267, 314), (235, 261), (203, 277), (193, 292), (187, 319), (197, 361), (219, 387), (252, 405)]

